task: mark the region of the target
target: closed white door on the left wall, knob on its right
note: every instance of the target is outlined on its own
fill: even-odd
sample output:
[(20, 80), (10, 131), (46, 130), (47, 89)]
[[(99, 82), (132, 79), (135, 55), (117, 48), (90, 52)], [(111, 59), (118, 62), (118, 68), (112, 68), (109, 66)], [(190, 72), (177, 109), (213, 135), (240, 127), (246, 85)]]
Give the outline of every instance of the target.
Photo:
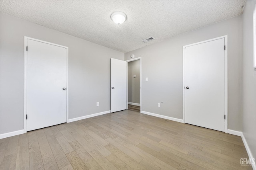
[(27, 39), (27, 131), (66, 122), (67, 49)]

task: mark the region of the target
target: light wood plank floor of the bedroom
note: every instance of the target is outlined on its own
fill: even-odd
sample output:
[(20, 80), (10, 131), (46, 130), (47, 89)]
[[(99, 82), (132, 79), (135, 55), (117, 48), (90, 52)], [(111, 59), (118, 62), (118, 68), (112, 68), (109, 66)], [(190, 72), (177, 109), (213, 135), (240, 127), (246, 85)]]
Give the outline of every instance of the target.
[(0, 169), (232, 170), (241, 137), (125, 110), (0, 140)]

